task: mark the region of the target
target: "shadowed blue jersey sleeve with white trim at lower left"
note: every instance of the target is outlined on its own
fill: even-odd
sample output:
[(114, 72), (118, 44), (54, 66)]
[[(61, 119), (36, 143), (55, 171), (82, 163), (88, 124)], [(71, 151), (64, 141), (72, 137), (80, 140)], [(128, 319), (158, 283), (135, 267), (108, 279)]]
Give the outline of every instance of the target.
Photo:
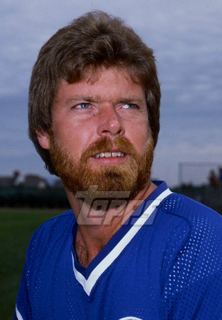
[(29, 302), (29, 268), (27, 261), (25, 262), (21, 283), (16, 299), (16, 308), (14, 312), (14, 320), (31, 320), (32, 312)]

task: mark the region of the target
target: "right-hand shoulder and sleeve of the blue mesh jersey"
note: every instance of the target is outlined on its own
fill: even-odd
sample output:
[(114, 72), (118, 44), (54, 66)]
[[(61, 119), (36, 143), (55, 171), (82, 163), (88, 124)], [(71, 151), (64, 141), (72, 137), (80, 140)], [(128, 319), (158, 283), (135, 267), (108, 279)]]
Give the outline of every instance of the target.
[(198, 319), (210, 318), (208, 309), (216, 319), (221, 315), (222, 298), (221, 215), (179, 194), (166, 198), (161, 211), (175, 226), (163, 262), (167, 308), (177, 318), (183, 303), (198, 314)]

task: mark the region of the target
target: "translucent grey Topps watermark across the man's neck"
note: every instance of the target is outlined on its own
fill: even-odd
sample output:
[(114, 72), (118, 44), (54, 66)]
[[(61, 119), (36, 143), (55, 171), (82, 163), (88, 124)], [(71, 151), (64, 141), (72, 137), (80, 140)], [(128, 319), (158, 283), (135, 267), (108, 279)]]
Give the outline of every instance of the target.
[[(79, 225), (109, 225), (117, 216), (122, 218), (120, 222), (122, 225), (138, 226), (153, 223), (154, 211), (156, 211), (155, 201), (130, 200), (130, 191), (97, 189), (98, 185), (91, 185), (86, 191), (77, 191), (75, 198), (81, 198), (83, 201), (77, 218)], [(146, 210), (147, 207), (149, 211)], [(86, 208), (88, 208), (87, 215)], [(154, 213), (153, 217), (148, 219), (151, 213)]]

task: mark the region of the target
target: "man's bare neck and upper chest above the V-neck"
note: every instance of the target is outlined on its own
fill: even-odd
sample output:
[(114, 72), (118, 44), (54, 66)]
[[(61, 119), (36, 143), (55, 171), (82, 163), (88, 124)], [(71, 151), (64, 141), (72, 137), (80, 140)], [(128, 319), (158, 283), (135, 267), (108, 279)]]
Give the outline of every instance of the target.
[(136, 208), (157, 187), (150, 181), (132, 200), (94, 198), (83, 201), (66, 190), (78, 228), (75, 250), (78, 262), (87, 267)]

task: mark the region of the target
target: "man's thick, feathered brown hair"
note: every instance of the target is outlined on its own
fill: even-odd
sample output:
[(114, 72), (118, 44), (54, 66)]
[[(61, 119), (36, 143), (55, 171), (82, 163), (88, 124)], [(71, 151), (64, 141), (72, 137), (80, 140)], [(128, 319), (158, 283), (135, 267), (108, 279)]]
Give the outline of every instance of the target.
[[(40, 146), (36, 130), (49, 132), (51, 107), (61, 79), (69, 84), (84, 79), (98, 68), (127, 69), (146, 93), (149, 125), (154, 147), (160, 131), (160, 84), (152, 49), (120, 18), (92, 11), (59, 29), (41, 48), (29, 86), (29, 137), (55, 174), (49, 151)], [(136, 81), (137, 79), (137, 81)]]

